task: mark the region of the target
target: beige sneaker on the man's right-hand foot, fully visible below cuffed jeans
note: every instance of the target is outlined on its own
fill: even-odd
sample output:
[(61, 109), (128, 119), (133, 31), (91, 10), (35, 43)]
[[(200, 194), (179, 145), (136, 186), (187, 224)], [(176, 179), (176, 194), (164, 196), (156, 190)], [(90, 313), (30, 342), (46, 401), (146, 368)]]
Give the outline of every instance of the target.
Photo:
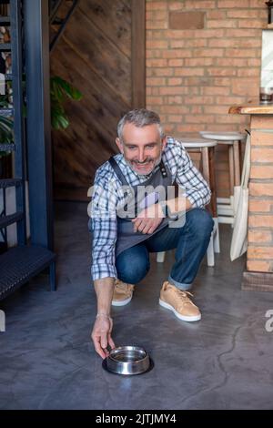
[(192, 294), (188, 291), (179, 290), (165, 281), (160, 291), (159, 305), (173, 311), (179, 320), (201, 320), (200, 311), (188, 296), (192, 296)]

